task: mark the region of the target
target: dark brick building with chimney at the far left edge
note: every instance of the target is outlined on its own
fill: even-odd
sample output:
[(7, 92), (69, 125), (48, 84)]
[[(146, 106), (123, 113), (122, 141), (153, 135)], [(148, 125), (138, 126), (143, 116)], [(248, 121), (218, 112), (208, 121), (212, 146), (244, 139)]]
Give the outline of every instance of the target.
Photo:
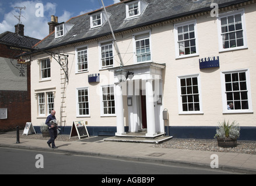
[(15, 33), (0, 34), (0, 131), (24, 127), (31, 121), (30, 65), (19, 64), (16, 56), (31, 51), (39, 41), (24, 36), (23, 24), (15, 25)]

